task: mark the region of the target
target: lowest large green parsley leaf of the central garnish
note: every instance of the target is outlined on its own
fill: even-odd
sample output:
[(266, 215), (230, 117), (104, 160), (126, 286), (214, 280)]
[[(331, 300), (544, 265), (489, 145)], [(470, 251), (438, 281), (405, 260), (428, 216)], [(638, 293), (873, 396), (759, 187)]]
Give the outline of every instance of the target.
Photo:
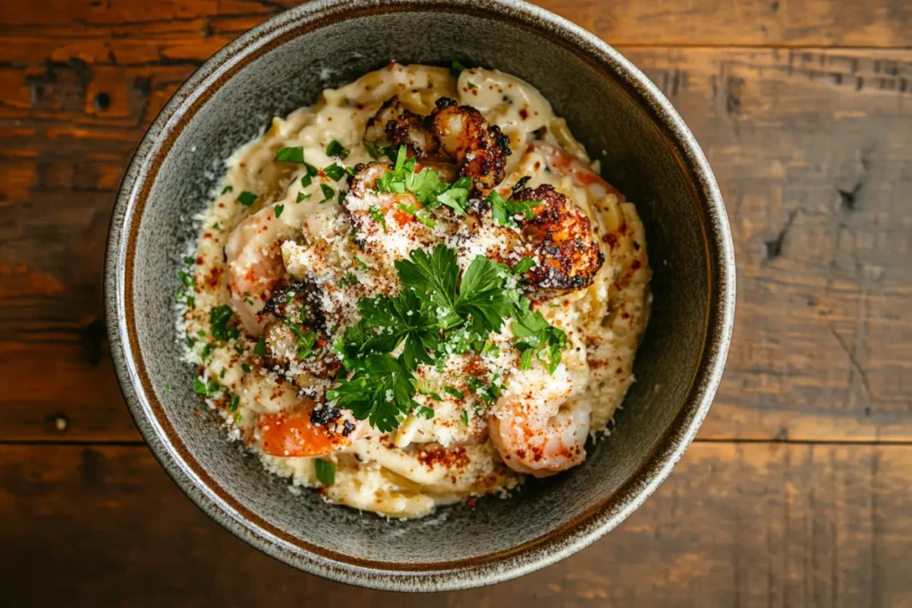
[(415, 405), (415, 376), (405, 366), (402, 357), (368, 355), (361, 366), (339, 386), (326, 391), (326, 398), (337, 407), (351, 411), (358, 419), (367, 419), (370, 426), (388, 433)]

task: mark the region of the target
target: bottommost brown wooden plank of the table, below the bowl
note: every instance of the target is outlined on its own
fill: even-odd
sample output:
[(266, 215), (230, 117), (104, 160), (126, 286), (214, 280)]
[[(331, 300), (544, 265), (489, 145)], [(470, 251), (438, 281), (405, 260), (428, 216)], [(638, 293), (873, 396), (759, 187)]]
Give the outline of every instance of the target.
[(5, 446), (0, 480), (0, 519), (15, 522), (0, 527), (0, 567), (16, 606), (912, 606), (907, 446), (696, 444), (592, 547), (517, 581), (431, 596), (265, 557), (142, 447)]

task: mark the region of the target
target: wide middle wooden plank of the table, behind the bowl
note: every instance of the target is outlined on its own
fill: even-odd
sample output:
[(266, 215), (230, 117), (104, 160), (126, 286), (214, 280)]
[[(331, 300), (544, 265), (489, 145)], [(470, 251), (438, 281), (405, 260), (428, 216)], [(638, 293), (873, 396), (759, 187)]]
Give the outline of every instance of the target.
[[(912, 51), (621, 50), (679, 108), (729, 210), (738, 314), (700, 437), (912, 439)], [(130, 150), (190, 70), (7, 68), (26, 90), (0, 107), (0, 362), (22, 380), (0, 439), (139, 438), (99, 269)]]

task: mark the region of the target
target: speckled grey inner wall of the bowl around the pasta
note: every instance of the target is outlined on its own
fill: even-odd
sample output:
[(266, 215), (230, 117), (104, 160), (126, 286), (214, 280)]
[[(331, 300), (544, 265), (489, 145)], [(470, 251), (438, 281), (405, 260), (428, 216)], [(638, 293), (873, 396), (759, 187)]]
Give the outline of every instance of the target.
[[(634, 500), (639, 489), (626, 483), (670, 432), (700, 366), (712, 280), (712, 251), (702, 228), (708, 222), (705, 203), (669, 143), (668, 129), (660, 127), (657, 110), (645, 107), (624, 77), (558, 36), (482, 11), (375, 10), (345, 22), (330, 15), (316, 24), (298, 23), (283, 34), (282, 44), (254, 56), (218, 77), (210, 93), (179, 119), (171, 139), (153, 146), (126, 271), (128, 324), (135, 329), (145, 391), (161, 404), (155, 409), (173, 429), (171, 442), (208, 474), (216, 493), (230, 497), (237, 511), (225, 519), (252, 518), (267, 531), (282, 531), (273, 541), (303, 562), (430, 573), (503, 557), (544, 535), (560, 536), (593, 510), (617, 511)], [(459, 59), (533, 83), (601, 160), (606, 179), (637, 203), (654, 271), (655, 299), (637, 355), (637, 383), (617, 414), (616, 430), (590, 450), (586, 464), (531, 482), (512, 500), (488, 498), (475, 509), (453, 506), (413, 521), (329, 505), (311, 491), (295, 495), (226, 441), (212, 417), (195, 416), (201, 404), (192, 391), (192, 369), (179, 360), (171, 309), (181, 256), (195, 236), (191, 218), (207, 204), (222, 160), (273, 116), (306, 106), (323, 88), (347, 83), (391, 58), (440, 65)], [(166, 384), (173, 388), (166, 390)]]

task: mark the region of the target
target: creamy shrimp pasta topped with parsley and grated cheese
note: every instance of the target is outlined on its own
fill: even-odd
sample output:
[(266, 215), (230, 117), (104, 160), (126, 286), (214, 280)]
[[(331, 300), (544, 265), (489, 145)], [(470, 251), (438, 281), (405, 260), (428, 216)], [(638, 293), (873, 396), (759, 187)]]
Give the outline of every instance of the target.
[(178, 294), (264, 466), (393, 518), (583, 462), (650, 302), (634, 205), (531, 85), (390, 63), (236, 150)]

